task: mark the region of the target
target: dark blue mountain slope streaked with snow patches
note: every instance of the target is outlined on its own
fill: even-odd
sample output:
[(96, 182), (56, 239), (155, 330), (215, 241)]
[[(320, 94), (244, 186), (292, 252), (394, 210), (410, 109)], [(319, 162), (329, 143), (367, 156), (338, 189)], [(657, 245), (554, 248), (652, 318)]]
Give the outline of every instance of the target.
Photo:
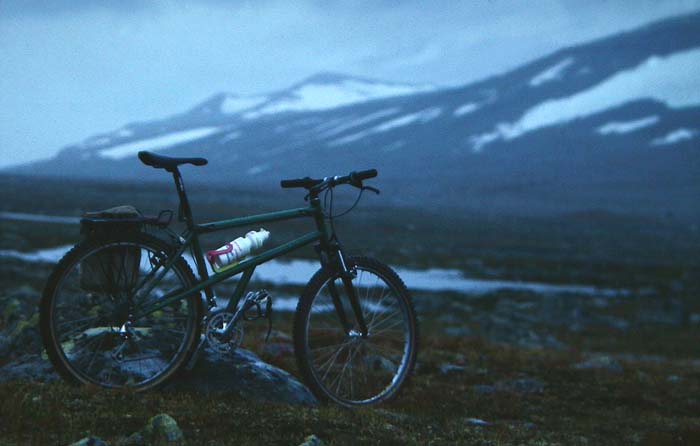
[(323, 74), (219, 94), (15, 171), (143, 177), (156, 173), (134, 157), (145, 149), (209, 158), (187, 171), (200, 180), (272, 188), (376, 167), (399, 202), (700, 218), (698, 23), (668, 19), (459, 88)]

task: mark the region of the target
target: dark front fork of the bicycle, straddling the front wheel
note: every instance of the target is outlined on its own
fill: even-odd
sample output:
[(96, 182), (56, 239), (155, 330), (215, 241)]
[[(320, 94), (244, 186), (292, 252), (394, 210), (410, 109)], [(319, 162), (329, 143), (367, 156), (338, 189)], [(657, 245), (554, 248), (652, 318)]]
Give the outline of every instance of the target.
[[(343, 250), (337, 241), (330, 243), (330, 246), (325, 250), (321, 246), (316, 246), (316, 251), (321, 257), (321, 264), (340, 275), (340, 279), (343, 282), (343, 288), (345, 289), (345, 294), (348, 296), (350, 307), (355, 315), (355, 321), (357, 321), (357, 325), (360, 328), (360, 335), (363, 338), (366, 338), (368, 335), (367, 323), (365, 322), (360, 300), (357, 297), (357, 290), (352, 283), (352, 279), (354, 279), (357, 275), (354, 266), (348, 266), (345, 261), (345, 256), (343, 255)], [(336, 314), (338, 315), (338, 320), (343, 326), (345, 334), (349, 335), (353, 331), (353, 325), (348, 320), (345, 308), (343, 307), (343, 302), (340, 298), (338, 287), (335, 284), (335, 279), (332, 279), (328, 283), (328, 291), (331, 294), (331, 299), (333, 300), (333, 306), (335, 307)]]

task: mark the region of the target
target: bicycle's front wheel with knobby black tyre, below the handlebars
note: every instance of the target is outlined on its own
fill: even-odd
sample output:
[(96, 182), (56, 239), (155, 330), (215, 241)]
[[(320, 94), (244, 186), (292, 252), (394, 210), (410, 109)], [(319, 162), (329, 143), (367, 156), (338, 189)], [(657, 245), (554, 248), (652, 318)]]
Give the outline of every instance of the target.
[(368, 257), (347, 260), (367, 335), (340, 274), (324, 268), (297, 305), (294, 348), (304, 380), (319, 399), (355, 407), (386, 401), (406, 382), (416, 362), (418, 321), (406, 285), (391, 268)]

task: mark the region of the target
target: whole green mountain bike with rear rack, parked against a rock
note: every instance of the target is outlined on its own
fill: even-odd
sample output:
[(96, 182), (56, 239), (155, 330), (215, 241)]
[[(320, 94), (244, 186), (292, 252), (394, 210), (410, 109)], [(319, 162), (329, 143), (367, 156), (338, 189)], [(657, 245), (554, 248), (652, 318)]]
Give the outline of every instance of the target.
[[(283, 188), (305, 189), (308, 206), (198, 224), (178, 166), (202, 166), (207, 160), (145, 151), (138, 157), (172, 174), (178, 217), (186, 229), (178, 234), (169, 227), (172, 211), (158, 217), (83, 219), (87, 235), (58, 262), (40, 303), (42, 340), (65, 379), (145, 391), (196, 360), (205, 342), (221, 353), (235, 349), (243, 320), (251, 314), (269, 317), (267, 292), (244, 297), (255, 268), (315, 244), (320, 268), (301, 293), (293, 318), (294, 353), (304, 382), (320, 400), (349, 407), (396, 395), (418, 349), (411, 296), (389, 266), (345, 255), (332, 214), (333, 188), (360, 189), (354, 208), (363, 191), (379, 192), (363, 183), (376, 170), (282, 180)], [(322, 193), (323, 202), (330, 193), (330, 212)], [(296, 218), (313, 219), (316, 230), (209, 274), (201, 234)], [(187, 250), (198, 277), (183, 257)], [(227, 306), (217, 307), (212, 286), (238, 274)]]

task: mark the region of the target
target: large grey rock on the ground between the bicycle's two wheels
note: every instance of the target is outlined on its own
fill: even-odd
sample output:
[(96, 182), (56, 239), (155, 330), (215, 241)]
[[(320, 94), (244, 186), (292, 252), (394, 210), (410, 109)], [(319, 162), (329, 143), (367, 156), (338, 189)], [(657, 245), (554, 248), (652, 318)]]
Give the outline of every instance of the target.
[(222, 356), (205, 347), (195, 367), (167, 386), (202, 393), (233, 392), (260, 401), (316, 405), (311, 391), (288, 372), (237, 349)]

